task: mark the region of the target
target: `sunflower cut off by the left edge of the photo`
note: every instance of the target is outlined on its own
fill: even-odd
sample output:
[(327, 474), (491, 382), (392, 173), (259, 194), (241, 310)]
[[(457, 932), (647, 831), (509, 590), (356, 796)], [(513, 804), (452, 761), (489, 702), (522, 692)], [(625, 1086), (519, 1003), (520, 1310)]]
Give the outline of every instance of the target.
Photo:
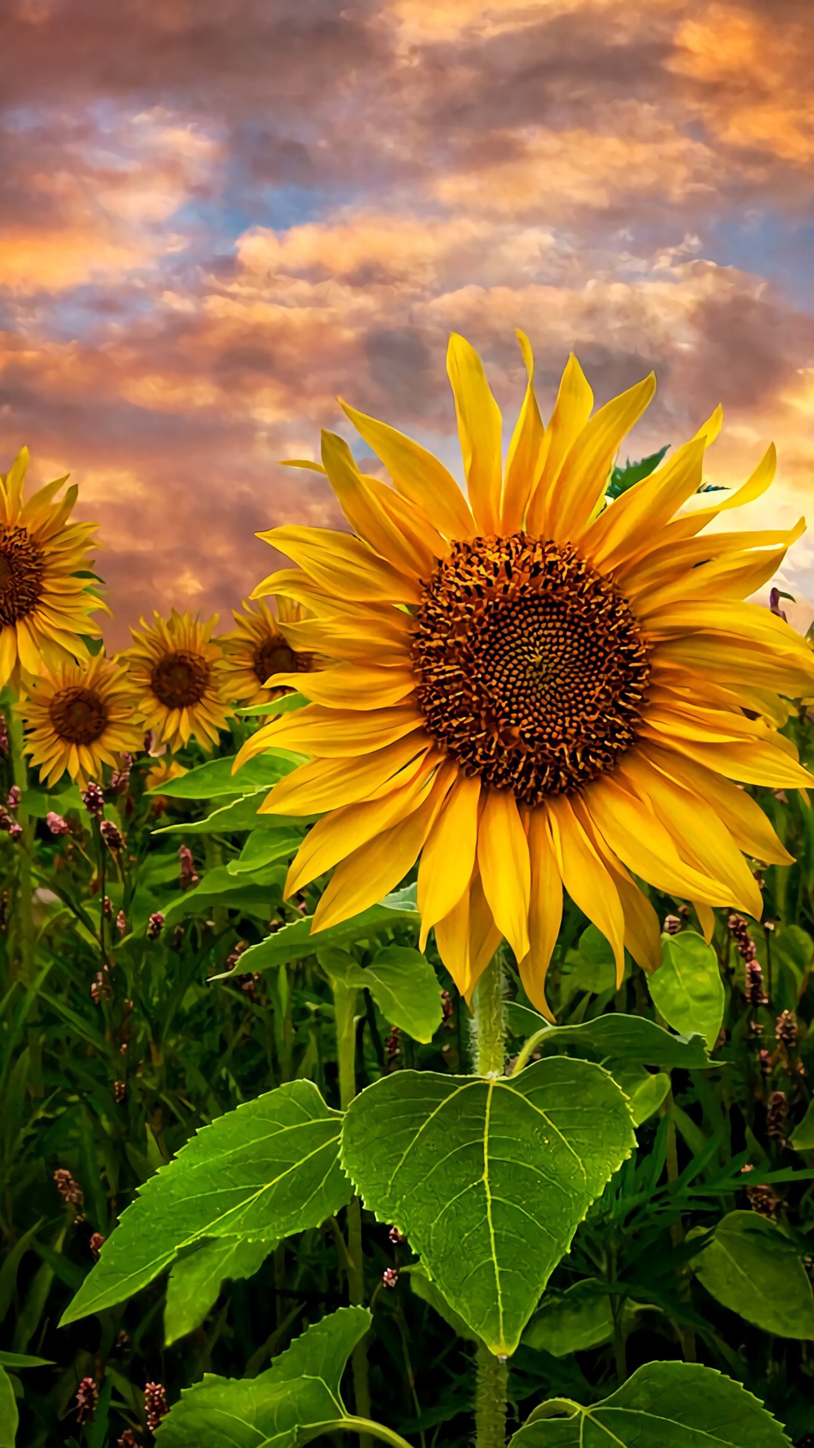
[(58, 478), (23, 501), (27, 447), (0, 473), (0, 686), (16, 689), (20, 670), (38, 675), (68, 659), (88, 659), (82, 634), (98, 636), (90, 615), (106, 605), (88, 588), (87, 553), (95, 523), (69, 523), (77, 488), (56, 494)]

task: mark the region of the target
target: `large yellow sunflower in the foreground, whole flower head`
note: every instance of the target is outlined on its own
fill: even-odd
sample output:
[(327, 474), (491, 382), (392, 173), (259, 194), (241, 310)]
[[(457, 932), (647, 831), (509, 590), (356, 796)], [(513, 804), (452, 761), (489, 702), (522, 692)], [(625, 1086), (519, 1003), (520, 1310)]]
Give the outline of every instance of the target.
[[(789, 856), (734, 780), (814, 783), (778, 733), (779, 695), (811, 692), (814, 659), (784, 620), (742, 599), (778, 568), (788, 531), (706, 526), (769, 485), (769, 447), (711, 505), (698, 491), (720, 408), (652, 476), (606, 505), (617, 447), (655, 391), (645, 378), (591, 416), (575, 361), (544, 429), (534, 363), (502, 466), (500, 413), (477, 353), (453, 336), (468, 502), (425, 449), (350, 407), (393, 488), (322, 434), (322, 463), (354, 531), (260, 534), (302, 572), (257, 592), (314, 614), (334, 665), (296, 679), (312, 701), (259, 730), (241, 756), (311, 756), (272, 791), (275, 814), (328, 811), (288, 877), (335, 866), (321, 930), (364, 909), (421, 854), (422, 943), (470, 993), (505, 937), (529, 996), (544, 982), (562, 889), (610, 941), (654, 969), (659, 922), (636, 877), (694, 902), (761, 915), (745, 854)], [(280, 675), (278, 683), (291, 683)], [(742, 853), (743, 851), (743, 853)]]

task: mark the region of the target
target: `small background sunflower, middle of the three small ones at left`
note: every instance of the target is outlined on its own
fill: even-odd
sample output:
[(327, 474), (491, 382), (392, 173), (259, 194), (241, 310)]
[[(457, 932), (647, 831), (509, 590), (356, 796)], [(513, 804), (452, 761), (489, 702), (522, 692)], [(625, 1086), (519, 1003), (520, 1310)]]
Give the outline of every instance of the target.
[(152, 626), (142, 618), (143, 631), (132, 630), (136, 643), (121, 654), (146, 728), (155, 728), (171, 750), (195, 736), (208, 752), (231, 715), (221, 686), (223, 649), (213, 639), (217, 621), (217, 614), (202, 623), (175, 608), (169, 618), (156, 611)]

